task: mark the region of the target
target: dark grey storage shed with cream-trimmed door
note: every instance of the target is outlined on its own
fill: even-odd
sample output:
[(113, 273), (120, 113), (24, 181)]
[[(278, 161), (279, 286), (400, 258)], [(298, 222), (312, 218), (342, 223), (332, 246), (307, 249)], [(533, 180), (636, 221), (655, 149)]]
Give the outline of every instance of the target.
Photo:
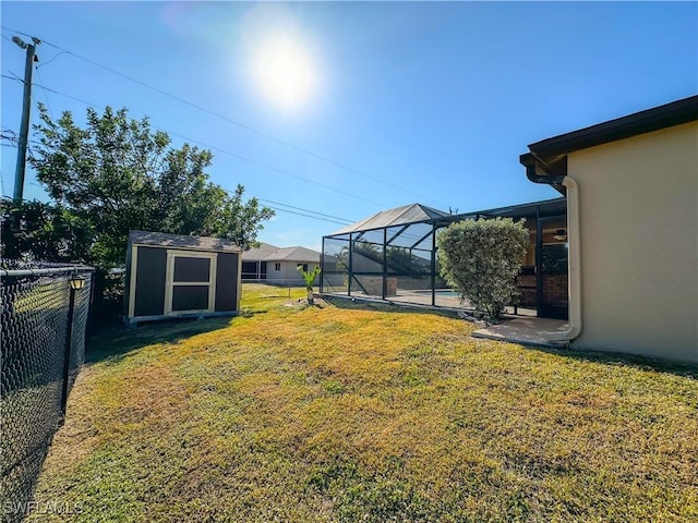
[(241, 263), (242, 250), (229, 240), (131, 231), (127, 324), (236, 314), (240, 308)]

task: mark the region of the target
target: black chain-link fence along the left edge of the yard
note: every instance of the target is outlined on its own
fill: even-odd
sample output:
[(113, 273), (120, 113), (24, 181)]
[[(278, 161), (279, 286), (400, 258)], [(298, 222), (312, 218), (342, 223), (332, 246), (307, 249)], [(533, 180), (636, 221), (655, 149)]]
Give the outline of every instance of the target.
[(21, 521), (85, 356), (93, 269), (3, 260), (0, 500)]

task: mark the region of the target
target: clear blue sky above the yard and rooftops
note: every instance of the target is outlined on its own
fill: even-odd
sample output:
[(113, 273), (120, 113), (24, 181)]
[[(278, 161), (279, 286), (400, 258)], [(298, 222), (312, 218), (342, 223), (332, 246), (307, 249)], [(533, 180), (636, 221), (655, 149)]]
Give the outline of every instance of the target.
[[(9, 41), (19, 31), (45, 40), (34, 101), (55, 118), (70, 110), (84, 122), (85, 104), (63, 95), (127, 107), (176, 146), (212, 148), (208, 173), (224, 187), (241, 183), (278, 209), (341, 219), (278, 210), (260, 240), (280, 246), (318, 248), (342, 220), (414, 202), (465, 212), (556, 197), (527, 181), (518, 163), (527, 144), (698, 93), (696, 2), (0, 9), (3, 130), (19, 130), (22, 85), (5, 77), (24, 71)], [(265, 90), (255, 76), (268, 60), (260, 51), (279, 38), (302, 56), (292, 70), (311, 77), (293, 105), (274, 96), (290, 85), (284, 78)], [(15, 149), (3, 141), (1, 153), (11, 195)], [(45, 199), (31, 171), (25, 197)]]

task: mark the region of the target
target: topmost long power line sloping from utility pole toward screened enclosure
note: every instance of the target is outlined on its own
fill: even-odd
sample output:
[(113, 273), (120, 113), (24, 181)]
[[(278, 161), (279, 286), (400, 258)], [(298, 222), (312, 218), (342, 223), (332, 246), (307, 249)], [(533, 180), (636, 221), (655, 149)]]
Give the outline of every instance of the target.
[[(0, 27), (1, 27), (1, 28), (3, 28), (3, 29), (5, 29), (5, 31), (14, 32), (14, 33), (17, 33), (17, 34), (23, 35), (23, 36), (31, 36), (31, 35), (28, 35), (27, 33), (23, 33), (23, 32), (21, 32), (21, 31), (12, 29), (12, 28), (7, 27), (7, 26), (4, 26), (4, 25), (2, 25), (2, 26), (0, 26)], [(160, 94), (160, 95), (163, 95), (163, 96), (167, 96), (167, 97), (172, 98), (172, 99), (174, 99), (174, 100), (177, 100), (177, 101), (179, 101), (179, 102), (181, 102), (181, 104), (184, 104), (184, 105), (190, 106), (190, 107), (192, 107), (192, 108), (194, 108), (194, 109), (197, 109), (197, 110), (203, 111), (203, 112), (205, 112), (205, 113), (207, 113), (207, 114), (210, 114), (210, 115), (216, 117), (216, 118), (218, 118), (218, 119), (220, 119), (220, 120), (224, 120), (224, 121), (226, 121), (226, 122), (228, 122), (228, 123), (231, 123), (231, 124), (237, 125), (237, 126), (239, 126), (239, 127), (241, 127), (241, 129), (244, 129), (245, 131), (249, 131), (249, 132), (251, 132), (251, 133), (257, 134), (257, 135), (260, 135), (260, 136), (264, 136), (265, 138), (269, 139), (269, 141), (276, 142), (276, 143), (280, 144), (280, 145), (284, 145), (284, 146), (289, 147), (289, 148), (291, 148), (291, 149), (294, 149), (294, 150), (298, 150), (298, 151), (300, 151), (300, 153), (303, 153), (304, 155), (308, 155), (308, 156), (311, 156), (311, 157), (313, 157), (313, 158), (315, 158), (315, 159), (318, 159), (318, 160), (325, 161), (325, 162), (330, 163), (330, 165), (333, 165), (333, 166), (335, 166), (335, 167), (338, 167), (338, 168), (340, 168), (340, 169), (344, 169), (344, 170), (346, 170), (346, 171), (349, 171), (349, 172), (351, 172), (351, 173), (353, 173), (353, 174), (358, 174), (358, 175), (360, 175), (360, 177), (366, 178), (366, 179), (372, 180), (372, 181), (374, 181), (374, 182), (381, 183), (381, 184), (383, 184), (383, 185), (387, 185), (387, 186), (389, 186), (389, 187), (397, 188), (398, 191), (402, 191), (402, 192), (405, 192), (405, 193), (407, 193), (407, 194), (411, 194), (411, 195), (413, 195), (413, 196), (418, 196), (419, 198), (423, 198), (423, 197), (424, 197), (424, 195), (423, 195), (423, 194), (416, 193), (416, 192), (413, 192), (413, 191), (409, 191), (408, 188), (405, 188), (405, 187), (404, 187), (404, 186), (401, 186), (401, 185), (394, 184), (394, 183), (390, 183), (390, 182), (386, 182), (385, 180), (381, 180), (380, 178), (372, 177), (372, 175), (366, 174), (366, 173), (364, 173), (364, 172), (361, 172), (361, 171), (359, 171), (359, 170), (357, 170), (357, 169), (354, 169), (354, 168), (352, 168), (352, 167), (345, 166), (344, 163), (340, 163), (340, 162), (338, 162), (338, 161), (336, 161), (336, 160), (333, 160), (332, 158), (327, 158), (327, 157), (325, 157), (325, 156), (318, 155), (317, 153), (313, 153), (312, 150), (309, 150), (309, 149), (306, 149), (306, 148), (299, 147), (299, 146), (293, 145), (293, 144), (291, 144), (290, 142), (287, 142), (287, 141), (285, 141), (285, 139), (277, 138), (276, 136), (270, 135), (270, 134), (268, 134), (268, 133), (265, 133), (264, 131), (260, 131), (260, 130), (257, 130), (257, 129), (255, 129), (255, 127), (252, 127), (252, 126), (246, 125), (246, 124), (244, 124), (244, 123), (242, 123), (242, 122), (239, 122), (239, 121), (233, 120), (233, 119), (231, 119), (231, 118), (229, 118), (229, 117), (226, 117), (225, 114), (220, 114), (220, 113), (218, 113), (218, 112), (212, 111), (210, 109), (207, 109), (207, 108), (205, 108), (205, 107), (203, 107), (203, 106), (200, 106), (198, 104), (194, 104), (193, 101), (186, 100), (185, 98), (182, 98), (182, 97), (180, 97), (180, 96), (177, 96), (177, 95), (173, 95), (173, 94), (171, 94), (171, 93), (168, 93), (167, 90), (164, 90), (164, 89), (161, 89), (161, 88), (159, 88), (159, 87), (156, 87), (156, 86), (154, 86), (154, 85), (151, 85), (151, 84), (148, 84), (148, 83), (146, 83), (146, 82), (143, 82), (143, 81), (141, 81), (141, 80), (137, 80), (137, 78), (135, 78), (135, 77), (133, 77), (133, 76), (130, 76), (130, 75), (128, 75), (128, 74), (124, 74), (124, 73), (122, 73), (122, 72), (120, 72), (120, 71), (117, 71), (117, 70), (115, 70), (115, 69), (112, 69), (112, 68), (109, 68), (108, 65), (104, 65), (104, 64), (101, 64), (101, 63), (99, 63), (99, 62), (96, 62), (96, 61), (94, 61), (94, 60), (89, 59), (89, 58), (83, 57), (82, 54), (77, 54), (76, 52), (73, 52), (73, 51), (70, 51), (70, 50), (68, 50), (68, 49), (65, 49), (65, 48), (62, 48), (62, 47), (60, 47), (60, 46), (57, 46), (56, 44), (51, 44), (50, 41), (46, 41), (46, 40), (41, 40), (41, 42), (43, 42), (43, 44), (46, 44), (46, 45), (48, 45), (48, 46), (51, 46), (51, 47), (53, 47), (53, 48), (56, 48), (56, 49), (58, 49), (58, 50), (62, 51), (63, 53), (71, 54), (71, 56), (73, 56), (73, 57), (75, 57), (75, 58), (77, 58), (77, 59), (80, 59), (80, 60), (83, 60), (83, 61), (85, 61), (85, 62), (87, 62), (87, 63), (89, 63), (89, 64), (92, 64), (92, 65), (94, 65), (94, 66), (100, 68), (100, 69), (103, 69), (103, 70), (105, 70), (105, 71), (108, 71), (108, 72), (110, 72), (110, 73), (112, 73), (112, 74), (116, 74), (116, 75), (118, 75), (118, 76), (121, 76), (121, 77), (123, 77), (123, 78), (127, 78), (127, 80), (128, 80), (128, 81), (130, 81), (130, 82), (133, 82), (133, 83), (135, 83), (135, 84), (139, 84), (139, 85), (141, 85), (141, 86), (143, 86), (143, 87), (146, 87), (146, 88), (151, 89), (151, 90), (154, 90), (154, 92), (156, 92), (156, 93), (158, 93), (158, 94)], [(58, 54), (57, 54), (57, 56), (58, 56)], [(51, 59), (51, 62), (57, 58), (57, 56), (56, 56), (56, 57), (53, 57), (53, 58)], [(49, 62), (49, 63), (50, 63), (50, 62)], [(435, 200), (435, 199), (433, 199), (433, 198), (429, 198), (429, 197), (428, 197), (428, 198), (425, 198), (425, 199), (428, 199), (429, 202), (432, 202), (432, 203), (434, 203), (434, 204), (441, 205), (441, 203), (440, 203), (440, 202), (436, 202), (436, 200)]]

